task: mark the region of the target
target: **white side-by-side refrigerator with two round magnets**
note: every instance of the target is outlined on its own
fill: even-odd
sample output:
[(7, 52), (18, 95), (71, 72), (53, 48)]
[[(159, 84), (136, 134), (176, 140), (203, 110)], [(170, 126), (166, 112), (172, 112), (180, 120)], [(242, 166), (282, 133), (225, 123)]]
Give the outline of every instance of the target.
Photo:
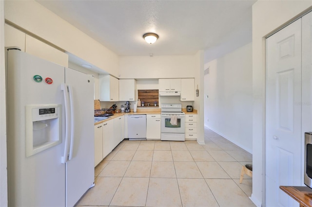
[(6, 53), (9, 206), (72, 207), (94, 186), (94, 78)]

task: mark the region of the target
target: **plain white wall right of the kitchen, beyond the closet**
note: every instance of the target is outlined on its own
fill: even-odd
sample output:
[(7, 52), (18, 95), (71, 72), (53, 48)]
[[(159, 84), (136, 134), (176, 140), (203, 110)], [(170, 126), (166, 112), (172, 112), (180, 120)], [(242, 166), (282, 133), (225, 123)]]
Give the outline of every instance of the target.
[(205, 126), (252, 153), (252, 43), (206, 63), (207, 68)]

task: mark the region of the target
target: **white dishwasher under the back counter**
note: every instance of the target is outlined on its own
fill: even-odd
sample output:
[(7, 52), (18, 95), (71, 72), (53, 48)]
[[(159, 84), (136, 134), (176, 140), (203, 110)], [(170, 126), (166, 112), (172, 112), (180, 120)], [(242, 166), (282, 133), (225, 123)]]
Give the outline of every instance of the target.
[(129, 140), (146, 139), (146, 114), (128, 115)]

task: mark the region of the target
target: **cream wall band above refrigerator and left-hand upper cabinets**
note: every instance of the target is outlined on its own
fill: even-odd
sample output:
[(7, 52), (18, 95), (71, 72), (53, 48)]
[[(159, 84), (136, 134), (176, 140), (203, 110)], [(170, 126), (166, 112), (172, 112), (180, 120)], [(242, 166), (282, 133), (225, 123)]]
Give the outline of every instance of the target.
[(5, 0), (4, 17), (27, 33), (72, 53), (114, 76), (118, 56), (34, 0)]

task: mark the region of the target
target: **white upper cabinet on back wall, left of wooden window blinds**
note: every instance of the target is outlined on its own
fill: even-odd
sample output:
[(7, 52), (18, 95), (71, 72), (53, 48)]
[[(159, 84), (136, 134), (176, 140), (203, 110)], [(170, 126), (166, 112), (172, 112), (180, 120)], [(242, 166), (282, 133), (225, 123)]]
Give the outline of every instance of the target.
[(119, 101), (137, 100), (137, 81), (135, 79), (119, 79)]

